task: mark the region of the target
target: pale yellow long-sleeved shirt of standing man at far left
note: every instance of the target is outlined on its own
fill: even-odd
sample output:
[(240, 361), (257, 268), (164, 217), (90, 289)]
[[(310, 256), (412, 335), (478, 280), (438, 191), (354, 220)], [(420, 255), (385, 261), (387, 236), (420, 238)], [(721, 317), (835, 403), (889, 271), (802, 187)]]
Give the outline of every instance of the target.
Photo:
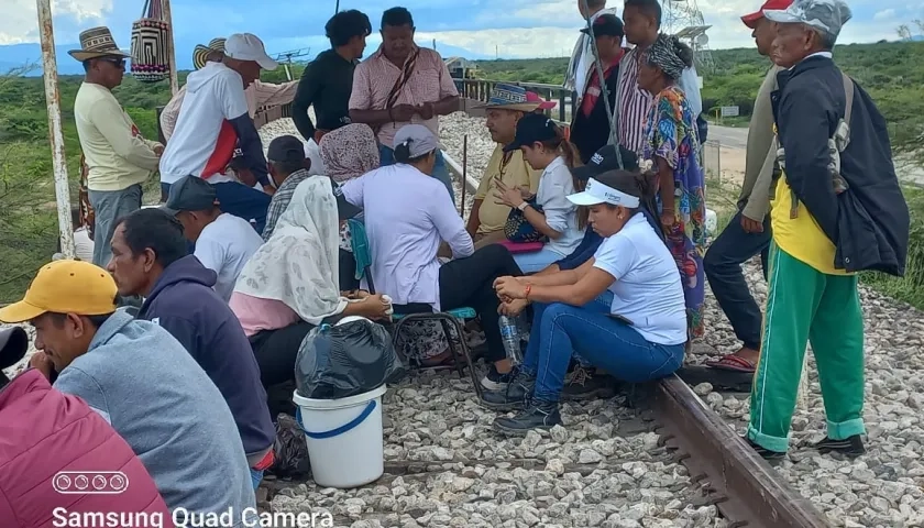
[(74, 121), (89, 167), (90, 190), (122, 190), (146, 180), (161, 158), (156, 142), (141, 136), (111, 91), (84, 82), (74, 100)]

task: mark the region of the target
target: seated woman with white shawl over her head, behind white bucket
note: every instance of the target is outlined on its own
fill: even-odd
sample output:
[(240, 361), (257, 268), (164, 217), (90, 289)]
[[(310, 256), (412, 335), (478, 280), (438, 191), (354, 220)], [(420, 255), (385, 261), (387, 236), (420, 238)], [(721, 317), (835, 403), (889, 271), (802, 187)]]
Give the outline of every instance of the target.
[[(241, 271), (229, 302), (253, 346), (263, 386), (295, 380), (305, 336), (343, 316), (384, 319), (381, 295), (348, 299), (338, 277), (338, 206), (331, 180), (311, 176), (298, 184), (273, 235)], [(288, 393), (292, 399), (292, 393)], [(275, 407), (275, 408), (274, 408)], [(293, 414), (271, 396), (272, 416)]]

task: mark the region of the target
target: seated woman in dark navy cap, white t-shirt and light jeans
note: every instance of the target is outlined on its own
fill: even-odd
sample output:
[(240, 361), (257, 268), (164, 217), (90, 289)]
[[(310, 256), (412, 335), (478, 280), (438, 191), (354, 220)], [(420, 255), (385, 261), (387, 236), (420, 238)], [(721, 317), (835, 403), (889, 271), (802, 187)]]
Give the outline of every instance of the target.
[(535, 170), (542, 170), (536, 204), (530, 204), (520, 189), (507, 188), (501, 182), (495, 198), (520, 210), (536, 231), (549, 238), (540, 251), (514, 255), (524, 273), (536, 273), (574, 251), (583, 238), (578, 208), (565, 198), (574, 193), (570, 169), (578, 152), (564, 139), (561, 128), (541, 113), (527, 114), (517, 122), (516, 139), (504, 151), (517, 148)]

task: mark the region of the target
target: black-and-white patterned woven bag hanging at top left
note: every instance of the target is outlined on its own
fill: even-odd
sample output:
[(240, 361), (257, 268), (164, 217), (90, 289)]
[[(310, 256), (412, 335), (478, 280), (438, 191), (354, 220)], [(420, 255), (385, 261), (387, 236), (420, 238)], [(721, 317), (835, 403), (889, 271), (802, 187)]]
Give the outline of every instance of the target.
[(132, 23), (132, 75), (141, 82), (157, 82), (170, 70), (170, 29), (163, 18), (161, 0), (145, 0), (141, 16)]

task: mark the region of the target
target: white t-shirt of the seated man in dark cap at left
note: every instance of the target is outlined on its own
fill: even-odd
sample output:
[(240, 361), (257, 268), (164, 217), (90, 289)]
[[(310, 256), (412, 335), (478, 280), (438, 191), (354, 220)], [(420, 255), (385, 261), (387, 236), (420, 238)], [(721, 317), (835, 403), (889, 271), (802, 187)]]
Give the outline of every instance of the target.
[(263, 244), (263, 238), (243, 218), (223, 212), (202, 230), (196, 241), (196, 258), (218, 274), (215, 290), (226, 302), (231, 299), (238, 275)]

